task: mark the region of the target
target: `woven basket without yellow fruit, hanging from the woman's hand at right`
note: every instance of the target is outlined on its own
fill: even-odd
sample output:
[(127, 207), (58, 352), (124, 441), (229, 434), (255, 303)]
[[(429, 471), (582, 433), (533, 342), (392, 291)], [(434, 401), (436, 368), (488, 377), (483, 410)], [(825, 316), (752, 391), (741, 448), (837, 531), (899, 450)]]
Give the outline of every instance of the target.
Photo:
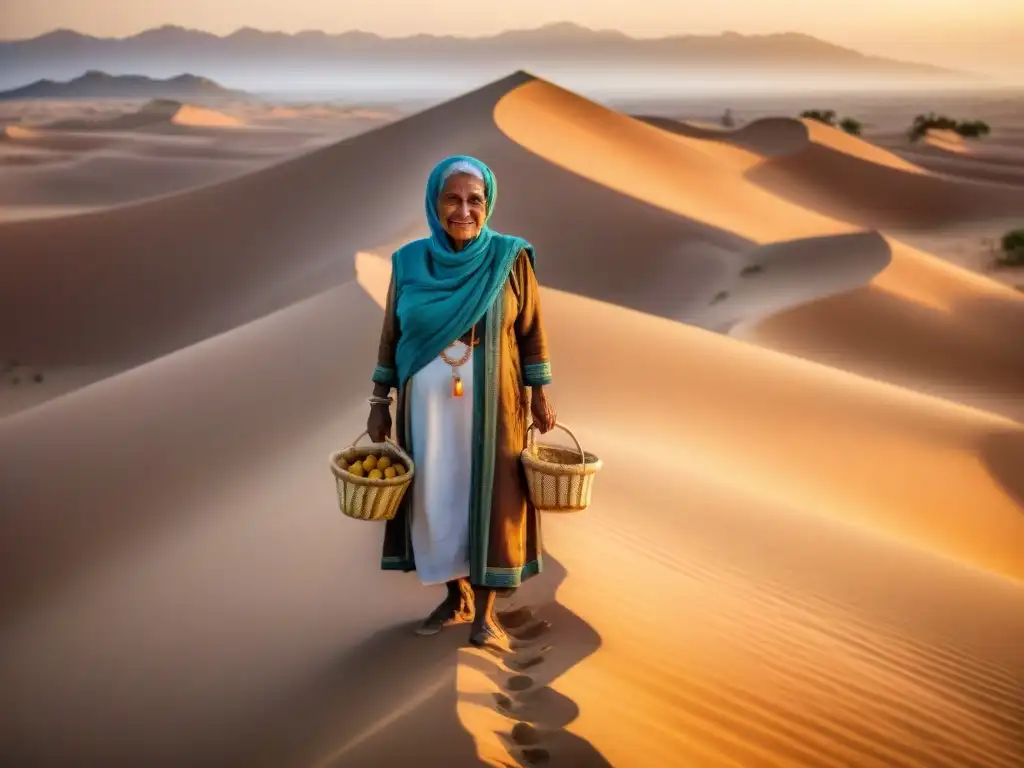
[(601, 460), (584, 451), (564, 424), (555, 426), (568, 433), (577, 450), (538, 445), (531, 424), (526, 430), (526, 447), (520, 455), (529, 497), (534, 507), (545, 512), (580, 512), (590, 506)]

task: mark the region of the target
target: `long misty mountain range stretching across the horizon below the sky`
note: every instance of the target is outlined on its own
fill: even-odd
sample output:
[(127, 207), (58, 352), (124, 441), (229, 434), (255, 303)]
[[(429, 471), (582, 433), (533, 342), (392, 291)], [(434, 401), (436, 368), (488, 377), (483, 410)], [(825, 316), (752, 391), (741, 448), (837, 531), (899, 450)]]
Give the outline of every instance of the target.
[[(366, 32), (260, 32), (241, 29), (225, 37), (181, 27), (160, 27), (126, 38), (96, 38), (57, 30), (31, 40), (0, 42), (0, 87), (34, 79), (68, 79), (86, 70), (166, 76), (294, 70), (358, 63), (388, 67), (505, 70), (543, 65), (670, 68), (717, 72), (848, 74), (907, 79), (974, 79), (931, 65), (868, 56), (799, 33), (776, 35), (631, 38), (573, 24), (504, 32), (479, 38), (416, 35), (382, 38)], [(16, 78), (16, 80), (15, 80)]]

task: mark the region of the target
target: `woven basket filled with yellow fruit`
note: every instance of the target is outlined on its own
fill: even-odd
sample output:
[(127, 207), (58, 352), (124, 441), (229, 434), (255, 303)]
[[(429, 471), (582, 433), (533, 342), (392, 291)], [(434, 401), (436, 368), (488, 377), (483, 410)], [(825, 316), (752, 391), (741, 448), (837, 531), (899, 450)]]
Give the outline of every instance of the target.
[[(356, 520), (390, 520), (398, 512), (398, 505), (413, 481), (416, 467), (409, 455), (390, 439), (356, 447), (356, 443), (368, 434), (364, 432), (349, 447), (331, 454), (331, 471), (338, 485), (338, 506), (344, 514)], [(400, 461), (406, 465), (406, 474), (371, 480), (369, 477), (356, 477), (338, 466), (339, 459), (351, 464), (353, 459), (365, 459), (370, 454), (387, 455), (392, 461)]]

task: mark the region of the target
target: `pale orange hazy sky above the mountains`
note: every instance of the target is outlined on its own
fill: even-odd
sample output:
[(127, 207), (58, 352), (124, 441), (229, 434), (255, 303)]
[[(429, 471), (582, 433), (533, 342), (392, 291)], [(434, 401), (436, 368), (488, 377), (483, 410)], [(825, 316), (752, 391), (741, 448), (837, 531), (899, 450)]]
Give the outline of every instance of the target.
[(5, 39), (59, 27), (124, 36), (163, 24), (217, 34), (255, 27), (486, 35), (562, 20), (637, 37), (805, 32), (868, 53), (1024, 75), (1024, 0), (0, 0)]

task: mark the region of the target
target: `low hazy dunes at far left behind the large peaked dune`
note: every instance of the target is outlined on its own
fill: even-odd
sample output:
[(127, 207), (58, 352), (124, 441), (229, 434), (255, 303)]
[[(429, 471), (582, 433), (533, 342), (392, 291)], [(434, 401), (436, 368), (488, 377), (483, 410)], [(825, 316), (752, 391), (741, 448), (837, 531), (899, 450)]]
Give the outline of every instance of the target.
[[(44, 102), (44, 104), (49, 102)], [(0, 105), (0, 220), (133, 203), (202, 186), (376, 128), (394, 111), (173, 100)]]

